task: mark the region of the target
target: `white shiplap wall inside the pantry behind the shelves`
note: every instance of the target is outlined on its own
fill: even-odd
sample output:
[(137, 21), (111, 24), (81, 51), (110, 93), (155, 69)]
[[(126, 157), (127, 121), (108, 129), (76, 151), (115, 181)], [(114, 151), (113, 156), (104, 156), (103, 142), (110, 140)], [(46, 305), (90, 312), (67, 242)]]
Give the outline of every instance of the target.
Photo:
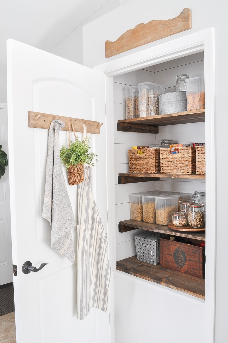
[(189, 74), (190, 78), (204, 76), (203, 52), (182, 57), (156, 66), (136, 70), (114, 78), (114, 144), (115, 144), (115, 220), (116, 220), (116, 260), (136, 255), (134, 235), (140, 230), (119, 233), (118, 223), (130, 219), (129, 193), (153, 189), (194, 192), (205, 190), (205, 180), (173, 180), (140, 182), (118, 185), (118, 174), (128, 172), (128, 149), (133, 145), (160, 145), (161, 139), (173, 139), (176, 143), (205, 142), (205, 123), (181, 124), (159, 127), (158, 134), (118, 132), (117, 121), (126, 118), (125, 91), (127, 85), (140, 82), (156, 82), (166, 86), (166, 92), (175, 91), (178, 74)]

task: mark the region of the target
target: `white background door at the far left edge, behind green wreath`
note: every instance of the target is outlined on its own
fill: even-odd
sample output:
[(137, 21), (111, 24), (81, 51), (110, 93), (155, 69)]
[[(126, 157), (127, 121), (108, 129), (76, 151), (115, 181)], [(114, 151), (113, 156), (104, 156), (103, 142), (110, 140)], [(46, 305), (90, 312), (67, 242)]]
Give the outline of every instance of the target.
[[(8, 153), (7, 109), (0, 109), (0, 144)], [(13, 281), (12, 247), (10, 228), (10, 186), (9, 168), (0, 179), (0, 285)]]

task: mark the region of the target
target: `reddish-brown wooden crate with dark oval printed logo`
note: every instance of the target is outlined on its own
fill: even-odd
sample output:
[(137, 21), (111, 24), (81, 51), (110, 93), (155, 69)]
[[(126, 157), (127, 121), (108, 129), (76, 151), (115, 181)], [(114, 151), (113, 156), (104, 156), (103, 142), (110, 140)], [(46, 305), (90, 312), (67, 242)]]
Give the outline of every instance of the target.
[(205, 247), (160, 239), (160, 264), (166, 269), (176, 270), (184, 274), (205, 277)]

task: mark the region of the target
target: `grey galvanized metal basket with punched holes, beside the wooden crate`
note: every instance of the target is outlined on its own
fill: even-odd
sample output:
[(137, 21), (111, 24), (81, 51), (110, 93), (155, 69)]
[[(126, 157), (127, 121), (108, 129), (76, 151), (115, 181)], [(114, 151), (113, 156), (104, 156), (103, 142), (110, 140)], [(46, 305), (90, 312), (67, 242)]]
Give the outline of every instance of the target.
[(160, 263), (160, 234), (146, 232), (135, 235), (137, 259), (150, 264)]

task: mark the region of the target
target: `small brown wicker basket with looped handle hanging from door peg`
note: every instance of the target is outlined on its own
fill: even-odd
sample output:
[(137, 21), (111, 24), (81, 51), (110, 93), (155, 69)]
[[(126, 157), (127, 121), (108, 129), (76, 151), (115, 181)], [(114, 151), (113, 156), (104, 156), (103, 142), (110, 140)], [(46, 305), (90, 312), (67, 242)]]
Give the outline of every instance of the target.
[[(75, 129), (73, 124), (69, 121), (68, 122), (68, 140), (69, 140), (69, 147), (70, 147), (70, 125), (72, 127), (72, 131), (75, 135), (75, 140), (77, 140)], [(84, 181), (84, 164), (70, 164), (68, 168), (68, 183), (70, 186), (78, 185)]]

